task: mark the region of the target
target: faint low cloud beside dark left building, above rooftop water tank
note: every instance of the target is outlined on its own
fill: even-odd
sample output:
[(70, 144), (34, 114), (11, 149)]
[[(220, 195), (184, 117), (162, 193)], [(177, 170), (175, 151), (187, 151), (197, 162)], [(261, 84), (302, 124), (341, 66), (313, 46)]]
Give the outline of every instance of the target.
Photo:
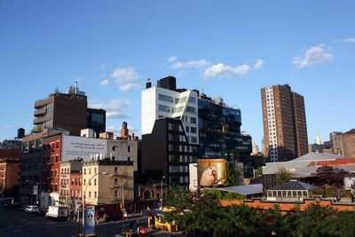
[(127, 107), (130, 107), (130, 100), (128, 99), (111, 99), (108, 103), (92, 104), (93, 108), (103, 108), (106, 110), (107, 118), (127, 118), (128, 115), (124, 113)]

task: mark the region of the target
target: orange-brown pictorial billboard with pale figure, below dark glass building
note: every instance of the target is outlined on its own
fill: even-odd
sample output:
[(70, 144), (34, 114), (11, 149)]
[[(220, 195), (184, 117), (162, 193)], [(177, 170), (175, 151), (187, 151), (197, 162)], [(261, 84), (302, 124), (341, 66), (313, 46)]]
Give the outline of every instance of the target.
[(197, 173), (199, 186), (224, 186), (227, 181), (225, 159), (200, 159)]

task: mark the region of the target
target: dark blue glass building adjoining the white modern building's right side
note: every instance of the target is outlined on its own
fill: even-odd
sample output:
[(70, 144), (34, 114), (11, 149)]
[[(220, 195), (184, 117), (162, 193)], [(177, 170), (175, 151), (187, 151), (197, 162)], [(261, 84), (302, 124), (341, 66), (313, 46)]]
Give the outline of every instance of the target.
[[(223, 158), (243, 162), (244, 175), (250, 174), (251, 137), (241, 134), (241, 110), (227, 107), (222, 99), (201, 94), (199, 105), (199, 158)], [(252, 170), (251, 170), (252, 173)]]

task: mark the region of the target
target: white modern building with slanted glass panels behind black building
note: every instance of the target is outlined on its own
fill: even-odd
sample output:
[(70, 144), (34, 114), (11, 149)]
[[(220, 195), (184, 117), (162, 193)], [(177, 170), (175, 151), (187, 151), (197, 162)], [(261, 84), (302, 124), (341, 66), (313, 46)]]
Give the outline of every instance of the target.
[(176, 78), (158, 80), (157, 86), (146, 83), (142, 91), (142, 135), (152, 133), (156, 119), (163, 117), (181, 120), (190, 144), (199, 144), (198, 92), (176, 88)]

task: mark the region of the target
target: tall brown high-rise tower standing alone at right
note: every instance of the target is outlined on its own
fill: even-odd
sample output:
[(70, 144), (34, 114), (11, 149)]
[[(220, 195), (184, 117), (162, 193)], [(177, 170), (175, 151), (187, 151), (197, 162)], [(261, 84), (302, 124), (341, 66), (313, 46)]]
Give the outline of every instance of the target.
[(308, 153), (304, 97), (288, 84), (261, 89), (264, 156), (283, 162)]

